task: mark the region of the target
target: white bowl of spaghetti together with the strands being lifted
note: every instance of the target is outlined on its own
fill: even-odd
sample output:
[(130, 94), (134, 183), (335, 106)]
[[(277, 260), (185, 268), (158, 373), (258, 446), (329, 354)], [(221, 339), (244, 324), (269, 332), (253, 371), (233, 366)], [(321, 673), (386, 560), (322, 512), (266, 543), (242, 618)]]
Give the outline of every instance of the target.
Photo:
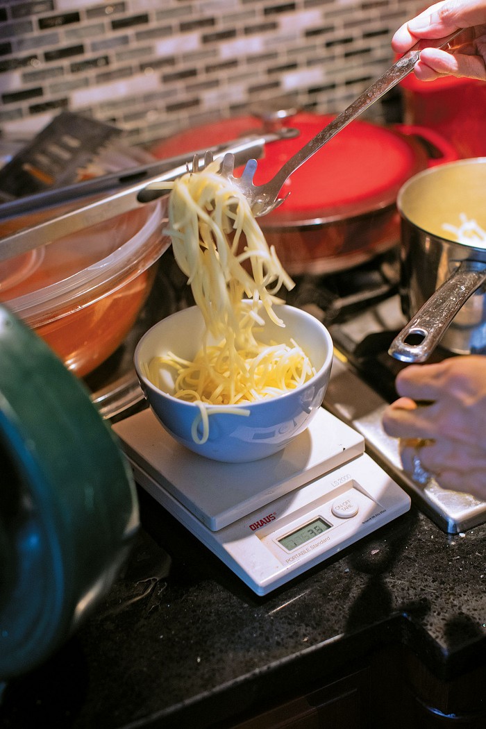
[(265, 458), (321, 405), (331, 337), (278, 297), (294, 282), (219, 163), (165, 184), (165, 233), (196, 305), (146, 332), (135, 352), (138, 379), (162, 425), (191, 451), (218, 461)]

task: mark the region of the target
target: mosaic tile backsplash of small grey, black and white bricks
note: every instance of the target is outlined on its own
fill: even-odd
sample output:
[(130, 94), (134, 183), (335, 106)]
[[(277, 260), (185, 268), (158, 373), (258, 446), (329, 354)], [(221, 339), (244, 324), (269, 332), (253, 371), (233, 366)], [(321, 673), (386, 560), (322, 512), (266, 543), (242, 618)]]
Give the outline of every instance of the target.
[(28, 138), (70, 109), (149, 146), (279, 97), (339, 112), (391, 64), (393, 32), (423, 5), (0, 0), (0, 133)]

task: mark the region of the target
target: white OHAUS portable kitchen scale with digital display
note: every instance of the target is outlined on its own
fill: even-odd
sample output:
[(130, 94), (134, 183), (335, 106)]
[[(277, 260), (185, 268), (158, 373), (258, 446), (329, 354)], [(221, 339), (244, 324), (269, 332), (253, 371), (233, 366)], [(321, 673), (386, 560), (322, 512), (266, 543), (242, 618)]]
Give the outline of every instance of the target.
[(324, 408), (282, 451), (250, 463), (192, 453), (150, 409), (113, 429), (136, 482), (257, 595), (410, 508), (409, 496), (364, 453), (364, 437)]

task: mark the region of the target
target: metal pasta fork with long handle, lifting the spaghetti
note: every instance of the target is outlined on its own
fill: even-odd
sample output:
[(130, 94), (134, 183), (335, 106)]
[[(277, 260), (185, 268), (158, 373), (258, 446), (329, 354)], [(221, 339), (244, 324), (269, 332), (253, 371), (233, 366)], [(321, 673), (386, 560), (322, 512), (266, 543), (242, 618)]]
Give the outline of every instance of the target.
[[(375, 104), (375, 101), (389, 91), (393, 86), (398, 84), (401, 79), (404, 79), (415, 67), (420, 58), (420, 51), (424, 47), (434, 47), (446, 49), (452, 39), (462, 32), (462, 28), (455, 33), (450, 34), (446, 38), (440, 38), (437, 40), (423, 41), (416, 44), (409, 52), (399, 58), (399, 61), (391, 66), (385, 74), (372, 83), (350, 106), (348, 106), (343, 112), (338, 114), (332, 122), (330, 122), (323, 130), (310, 139), (302, 149), (299, 150), (293, 157), (291, 157), (277, 174), (265, 184), (255, 185), (253, 183), (254, 174), (256, 171), (256, 160), (251, 159), (245, 165), (243, 173), (240, 177), (235, 177), (233, 174), (235, 166), (235, 157), (231, 153), (224, 155), (222, 165), (219, 169), (219, 174), (227, 177), (235, 183), (240, 190), (246, 195), (248, 202), (251, 206), (251, 211), (255, 217), (262, 217), (267, 215), (271, 211), (278, 208), (284, 200), (288, 197), (289, 193), (279, 198), (278, 194), (281, 191), (284, 182), (291, 176), (293, 172), (297, 170), (303, 163), (305, 163), (309, 157), (315, 154), (318, 149), (324, 147), (332, 137), (340, 132), (346, 125), (348, 125), (353, 119), (356, 119), (359, 114), (362, 114), (369, 106)], [(205, 165), (211, 161), (211, 155), (205, 155)], [(193, 169), (197, 169), (199, 164), (198, 158), (194, 160)]]

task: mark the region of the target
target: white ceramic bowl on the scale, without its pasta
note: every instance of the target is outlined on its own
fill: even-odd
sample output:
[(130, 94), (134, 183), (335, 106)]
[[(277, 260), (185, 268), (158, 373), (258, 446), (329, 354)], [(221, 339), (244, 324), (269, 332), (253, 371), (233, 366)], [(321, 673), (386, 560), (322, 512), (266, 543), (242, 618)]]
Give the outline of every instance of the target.
[[(153, 412), (164, 428), (182, 445), (200, 456), (216, 461), (256, 461), (281, 451), (287, 443), (307, 428), (318, 411), (329, 383), (332, 366), (332, 339), (318, 319), (289, 305), (275, 307), (286, 326), (278, 327), (266, 315), (262, 341), (290, 343), (294, 339), (310, 358), (315, 376), (297, 389), (251, 405), (249, 416), (215, 412), (208, 418), (209, 436), (205, 443), (195, 443), (191, 429), (200, 408), (193, 402), (173, 397), (173, 382), (167, 378), (165, 391), (155, 387), (144, 375), (143, 365), (154, 356), (172, 351), (191, 361), (200, 349), (204, 323), (200, 310), (193, 306), (162, 319), (141, 338), (134, 362), (141, 388)], [(211, 413), (211, 405), (207, 405)], [(214, 408), (213, 408), (214, 409)], [(198, 431), (198, 434), (201, 433)]]

